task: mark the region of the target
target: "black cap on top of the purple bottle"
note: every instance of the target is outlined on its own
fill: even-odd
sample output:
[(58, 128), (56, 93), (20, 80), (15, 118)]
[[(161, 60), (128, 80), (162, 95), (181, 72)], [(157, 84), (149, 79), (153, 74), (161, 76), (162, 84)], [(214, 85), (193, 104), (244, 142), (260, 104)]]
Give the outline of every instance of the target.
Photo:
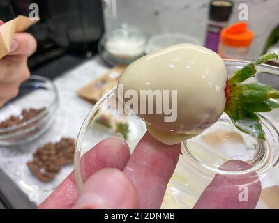
[(234, 3), (228, 0), (213, 0), (210, 2), (209, 19), (217, 22), (229, 20)]

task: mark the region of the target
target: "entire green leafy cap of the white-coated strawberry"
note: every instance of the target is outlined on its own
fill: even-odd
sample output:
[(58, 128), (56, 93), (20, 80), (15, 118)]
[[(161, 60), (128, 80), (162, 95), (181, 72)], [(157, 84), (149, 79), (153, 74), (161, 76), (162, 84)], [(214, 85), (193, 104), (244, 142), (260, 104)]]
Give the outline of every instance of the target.
[(255, 59), (234, 72), (234, 75), (227, 79), (225, 88), (225, 113), (236, 128), (262, 140), (265, 140), (264, 131), (257, 112), (269, 112), (279, 108), (279, 103), (275, 100), (279, 98), (279, 91), (259, 82), (243, 82), (255, 75), (257, 65), (273, 59), (278, 59), (278, 55), (269, 53)]

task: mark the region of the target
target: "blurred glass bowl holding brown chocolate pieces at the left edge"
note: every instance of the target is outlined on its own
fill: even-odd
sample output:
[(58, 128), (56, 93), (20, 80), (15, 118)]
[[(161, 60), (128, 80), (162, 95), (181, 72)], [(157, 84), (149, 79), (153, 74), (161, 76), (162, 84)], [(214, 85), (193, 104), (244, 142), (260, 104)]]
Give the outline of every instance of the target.
[(24, 144), (40, 137), (52, 125), (58, 106), (58, 91), (52, 81), (46, 77), (31, 76), (20, 86), (17, 98), (0, 109), (0, 122), (10, 116), (22, 118), (23, 109), (42, 111), (26, 121), (0, 128), (0, 146)]

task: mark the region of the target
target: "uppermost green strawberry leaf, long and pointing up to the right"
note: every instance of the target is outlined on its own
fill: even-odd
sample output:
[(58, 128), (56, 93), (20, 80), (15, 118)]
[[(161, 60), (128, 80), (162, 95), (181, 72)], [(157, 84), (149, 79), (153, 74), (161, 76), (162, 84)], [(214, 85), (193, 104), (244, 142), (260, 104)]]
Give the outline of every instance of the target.
[(258, 59), (255, 59), (254, 61), (249, 63), (241, 70), (237, 70), (236, 72), (234, 72), (234, 75), (229, 78), (229, 86), (232, 86), (236, 83), (244, 82), (249, 77), (252, 77), (252, 75), (255, 75), (255, 73), (257, 72), (255, 67), (257, 65), (265, 63), (267, 61), (271, 61), (273, 59), (278, 59), (278, 55), (275, 53), (264, 54)]

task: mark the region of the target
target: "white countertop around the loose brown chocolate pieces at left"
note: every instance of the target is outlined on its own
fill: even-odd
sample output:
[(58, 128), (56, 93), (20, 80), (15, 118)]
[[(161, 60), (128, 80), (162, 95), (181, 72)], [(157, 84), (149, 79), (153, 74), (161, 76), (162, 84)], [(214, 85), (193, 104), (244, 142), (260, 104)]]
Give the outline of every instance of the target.
[(54, 79), (54, 84), (59, 91), (60, 104), (52, 128), (30, 144), (9, 148), (0, 146), (0, 168), (32, 201), (36, 203), (43, 201), (70, 173), (73, 165), (63, 167), (52, 183), (41, 183), (31, 175), (26, 163), (32, 159), (32, 154), (38, 146), (49, 141), (58, 141), (61, 137), (76, 139), (86, 114), (93, 106), (79, 98), (76, 91), (107, 70), (109, 68), (96, 56)]

